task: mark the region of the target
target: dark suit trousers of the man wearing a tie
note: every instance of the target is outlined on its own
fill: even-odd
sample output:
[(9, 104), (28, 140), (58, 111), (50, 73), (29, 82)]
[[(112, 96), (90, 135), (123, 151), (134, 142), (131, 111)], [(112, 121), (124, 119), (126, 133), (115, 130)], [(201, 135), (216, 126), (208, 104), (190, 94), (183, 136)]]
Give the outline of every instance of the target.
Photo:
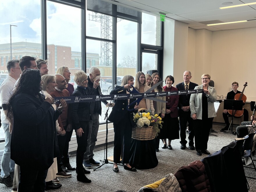
[(184, 112), (182, 109), (179, 111), (179, 131), (180, 131), (180, 144), (186, 145), (186, 128), (187, 123), (189, 124), (189, 146), (194, 146), (194, 123), (191, 118), (191, 112)]

